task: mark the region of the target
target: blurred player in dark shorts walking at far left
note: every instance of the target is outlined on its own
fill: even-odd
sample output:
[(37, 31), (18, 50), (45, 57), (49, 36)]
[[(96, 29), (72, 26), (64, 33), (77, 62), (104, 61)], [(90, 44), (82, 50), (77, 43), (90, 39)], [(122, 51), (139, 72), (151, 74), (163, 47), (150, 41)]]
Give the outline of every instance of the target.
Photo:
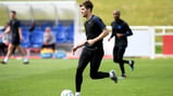
[(22, 36), (22, 29), (21, 29), (21, 22), (16, 18), (16, 12), (15, 11), (11, 11), (10, 12), (10, 22), (9, 22), (9, 26), (8, 28), (4, 30), (4, 32), (0, 36), (0, 38), (8, 33), (11, 32), (11, 42), (10, 45), (8, 47), (8, 53), (2, 61), (2, 64), (7, 64), (9, 60), (9, 57), (13, 51), (14, 47), (16, 47), (23, 55), (24, 57), (24, 64), (28, 64), (28, 58), (26, 56), (25, 51), (21, 47), (20, 45), (20, 41), (23, 41), (23, 36)]

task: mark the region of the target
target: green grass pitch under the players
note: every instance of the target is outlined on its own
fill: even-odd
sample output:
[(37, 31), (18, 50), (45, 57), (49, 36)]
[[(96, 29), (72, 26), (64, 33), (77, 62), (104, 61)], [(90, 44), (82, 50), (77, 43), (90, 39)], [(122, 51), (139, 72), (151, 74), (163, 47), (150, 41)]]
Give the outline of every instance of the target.
[[(128, 59), (128, 58), (127, 58)], [(91, 80), (89, 65), (84, 71), (82, 96), (173, 96), (173, 59), (135, 60), (135, 70), (126, 65), (126, 79), (119, 83), (110, 79)], [(60, 96), (65, 88), (75, 92), (75, 69), (78, 59), (10, 59), (0, 65), (0, 96)], [(101, 71), (114, 69), (120, 76), (119, 65), (103, 59)]]

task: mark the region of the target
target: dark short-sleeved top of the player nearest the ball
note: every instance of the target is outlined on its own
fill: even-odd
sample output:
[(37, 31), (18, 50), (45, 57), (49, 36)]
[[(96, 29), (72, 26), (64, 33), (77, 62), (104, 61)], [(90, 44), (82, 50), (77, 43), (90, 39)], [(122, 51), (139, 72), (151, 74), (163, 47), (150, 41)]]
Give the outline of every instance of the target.
[[(92, 15), (89, 20), (85, 22), (85, 30), (86, 30), (86, 37), (87, 40), (94, 39), (98, 37), (102, 30), (106, 28), (106, 25), (103, 24), (102, 19), (96, 15)], [(102, 47), (102, 40), (99, 40), (94, 45), (87, 47)]]

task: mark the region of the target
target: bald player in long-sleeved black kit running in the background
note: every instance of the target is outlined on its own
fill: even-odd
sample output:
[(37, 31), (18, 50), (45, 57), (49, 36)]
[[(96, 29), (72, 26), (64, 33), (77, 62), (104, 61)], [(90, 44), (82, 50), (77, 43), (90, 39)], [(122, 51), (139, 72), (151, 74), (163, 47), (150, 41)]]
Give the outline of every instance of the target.
[(112, 26), (112, 35), (108, 39), (110, 41), (113, 37), (115, 37), (114, 49), (113, 49), (113, 61), (119, 63), (121, 69), (120, 79), (126, 78), (124, 64), (128, 64), (131, 69), (134, 70), (134, 60), (124, 60), (123, 55), (125, 53), (125, 49), (127, 46), (127, 37), (132, 36), (133, 32), (128, 27), (127, 23), (120, 18), (120, 11), (113, 11), (114, 20), (111, 23)]

